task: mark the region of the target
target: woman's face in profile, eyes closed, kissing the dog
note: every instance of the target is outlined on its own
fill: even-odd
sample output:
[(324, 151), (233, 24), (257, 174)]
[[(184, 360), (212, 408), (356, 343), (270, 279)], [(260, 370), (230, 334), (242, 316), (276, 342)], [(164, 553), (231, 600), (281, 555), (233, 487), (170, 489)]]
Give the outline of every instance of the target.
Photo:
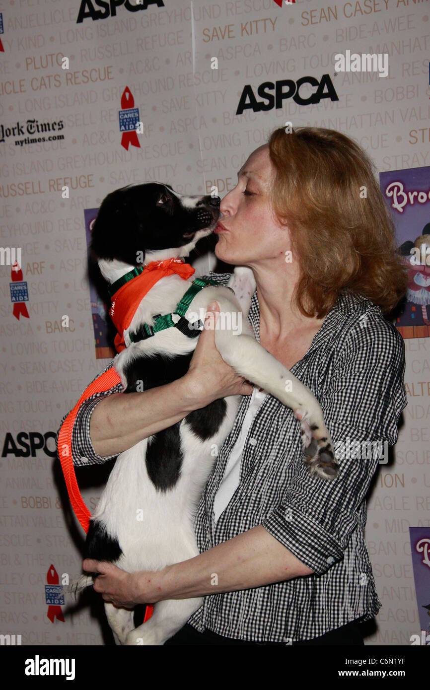
[(285, 262), (289, 233), (277, 221), (270, 203), (273, 165), (268, 146), (260, 146), (238, 173), (237, 185), (221, 201), (215, 229), (215, 255), (227, 264), (257, 266), (277, 258)]

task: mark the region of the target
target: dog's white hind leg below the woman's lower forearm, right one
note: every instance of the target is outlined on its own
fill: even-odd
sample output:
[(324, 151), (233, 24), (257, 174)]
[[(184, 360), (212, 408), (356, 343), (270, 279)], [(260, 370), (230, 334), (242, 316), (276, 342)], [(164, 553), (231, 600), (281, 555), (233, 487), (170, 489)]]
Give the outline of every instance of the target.
[(127, 635), (128, 645), (160, 646), (173, 637), (190, 615), (202, 605), (203, 599), (168, 599), (157, 602), (153, 615)]

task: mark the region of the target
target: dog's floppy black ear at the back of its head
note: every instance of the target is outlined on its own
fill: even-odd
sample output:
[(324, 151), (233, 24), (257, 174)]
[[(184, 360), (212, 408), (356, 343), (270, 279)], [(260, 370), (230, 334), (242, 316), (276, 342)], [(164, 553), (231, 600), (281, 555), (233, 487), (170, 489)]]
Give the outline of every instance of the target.
[(120, 259), (137, 266), (145, 259), (144, 247), (139, 248), (137, 256), (135, 246), (142, 232), (143, 222), (128, 190), (117, 189), (101, 202), (92, 226), (90, 248), (99, 259)]

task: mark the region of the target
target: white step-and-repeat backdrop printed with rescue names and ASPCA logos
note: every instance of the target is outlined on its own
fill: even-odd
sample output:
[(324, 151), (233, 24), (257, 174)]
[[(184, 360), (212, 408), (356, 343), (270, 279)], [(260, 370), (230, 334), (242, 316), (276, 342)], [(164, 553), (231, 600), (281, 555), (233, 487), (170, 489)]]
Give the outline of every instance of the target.
[[(0, 9), (2, 644), (112, 642), (101, 604), (71, 613), (58, 591), (65, 573), (81, 571), (83, 533), (56, 434), (111, 356), (104, 302), (88, 281), (101, 200), (146, 180), (223, 196), (288, 123), (340, 130), (367, 150), (411, 266), (396, 323), (409, 404), (368, 503), (383, 606), (366, 644), (425, 644), (430, 3), (3, 0)], [(213, 256), (197, 263), (203, 273)], [(92, 470), (79, 475), (90, 509), (102, 486)]]

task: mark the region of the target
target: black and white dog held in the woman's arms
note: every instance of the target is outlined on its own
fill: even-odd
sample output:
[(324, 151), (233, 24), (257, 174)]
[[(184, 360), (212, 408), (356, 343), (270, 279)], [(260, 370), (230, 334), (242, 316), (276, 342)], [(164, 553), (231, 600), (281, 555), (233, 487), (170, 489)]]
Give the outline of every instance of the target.
[[(170, 257), (186, 257), (200, 237), (209, 235), (219, 217), (219, 199), (184, 196), (164, 184), (150, 182), (116, 190), (104, 199), (92, 230), (92, 250), (102, 275), (115, 283), (138, 266)], [(243, 290), (248, 268), (239, 268), (230, 284)], [(160, 279), (141, 300), (129, 328), (126, 348), (115, 362), (124, 393), (162, 386), (183, 376), (193, 355), (197, 337), (178, 328), (166, 328), (134, 342), (141, 324), (154, 324), (156, 315), (173, 313), (193, 282), (179, 275)], [(215, 344), (224, 361), (253, 384), (277, 397), (302, 415), (304, 462), (311, 472), (333, 479), (338, 471), (329, 433), (315, 397), (288, 369), (255, 339), (246, 314), (255, 283), (243, 290), (246, 306), (242, 332), (233, 335), (237, 319), (225, 319), (215, 330)], [(248, 293), (248, 294), (246, 294)], [(241, 315), (231, 289), (207, 286), (190, 303), (185, 318), (205, 313), (216, 300), (221, 313)], [(194, 321), (192, 317), (190, 321)], [(199, 335), (199, 332), (197, 333)], [(292, 392), (286, 392), (286, 382)], [(126, 571), (159, 570), (168, 564), (198, 555), (193, 516), (204, 485), (213, 469), (213, 444), (219, 448), (231, 431), (240, 395), (215, 400), (189, 413), (164, 431), (121, 453), (92, 515), (86, 540), (86, 558), (114, 562)], [(143, 511), (137, 519), (138, 511)], [(80, 578), (78, 589), (92, 584)], [(152, 618), (135, 628), (133, 611), (105, 604), (110, 627), (120, 644), (161, 645), (174, 635), (202, 604), (201, 598), (168, 600), (155, 604)]]

